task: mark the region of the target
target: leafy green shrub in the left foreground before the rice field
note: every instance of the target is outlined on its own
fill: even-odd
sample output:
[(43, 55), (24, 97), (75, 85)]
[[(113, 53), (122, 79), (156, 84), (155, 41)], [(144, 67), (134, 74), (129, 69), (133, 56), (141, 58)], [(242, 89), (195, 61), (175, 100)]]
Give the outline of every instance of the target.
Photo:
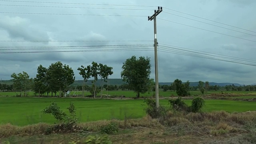
[(44, 114), (52, 114), (56, 120), (64, 120), (65, 116), (67, 114), (60, 110), (60, 107), (57, 106), (55, 102), (50, 104), (50, 106), (46, 107), (44, 110), (42, 110)]

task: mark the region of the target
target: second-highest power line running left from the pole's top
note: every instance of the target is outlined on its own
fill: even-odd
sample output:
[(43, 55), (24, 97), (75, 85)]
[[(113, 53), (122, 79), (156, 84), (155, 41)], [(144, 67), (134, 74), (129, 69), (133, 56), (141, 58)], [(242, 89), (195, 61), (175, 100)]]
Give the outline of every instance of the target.
[(87, 9), (111, 9), (111, 10), (153, 10), (153, 9), (131, 9), (131, 8), (92, 8), (92, 7), (68, 7), (68, 6), (31, 6), (31, 5), (12, 5), (12, 4), (0, 4), (0, 6), (28, 6), (28, 7), (47, 7), (47, 8), (87, 8)]

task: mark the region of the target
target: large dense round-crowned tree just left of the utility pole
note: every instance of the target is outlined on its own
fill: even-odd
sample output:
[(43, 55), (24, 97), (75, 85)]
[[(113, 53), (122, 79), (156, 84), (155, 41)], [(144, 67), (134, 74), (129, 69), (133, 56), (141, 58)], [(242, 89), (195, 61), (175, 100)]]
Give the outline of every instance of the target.
[(140, 56), (137, 59), (136, 56), (132, 56), (126, 59), (122, 69), (121, 78), (137, 93), (137, 98), (140, 97), (140, 93), (148, 91), (151, 73), (150, 58)]

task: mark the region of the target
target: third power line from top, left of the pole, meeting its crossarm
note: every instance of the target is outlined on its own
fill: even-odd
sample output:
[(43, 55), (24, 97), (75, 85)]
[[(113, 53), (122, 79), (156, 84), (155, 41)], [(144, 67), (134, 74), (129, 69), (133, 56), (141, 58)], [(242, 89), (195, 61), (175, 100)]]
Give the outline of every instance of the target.
[(131, 16), (131, 17), (147, 17), (136, 15), (103, 15), (103, 14), (54, 14), (54, 13), (27, 13), (27, 12), (0, 12), (3, 14), (50, 14), (50, 15), (75, 15), (75, 16)]

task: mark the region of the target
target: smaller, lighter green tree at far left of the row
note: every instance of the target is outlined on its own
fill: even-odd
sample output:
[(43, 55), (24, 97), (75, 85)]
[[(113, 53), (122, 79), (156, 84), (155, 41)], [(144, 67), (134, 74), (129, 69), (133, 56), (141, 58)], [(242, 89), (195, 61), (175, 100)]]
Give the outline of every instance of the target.
[(24, 71), (19, 74), (13, 73), (11, 78), (14, 88), (20, 91), (20, 96), (22, 96), (22, 92), (24, 92), (24, 95), (26, 96), (27, 90), (29, 90), (32, 85), (32, 79), (29, 78), (28, 73)]

